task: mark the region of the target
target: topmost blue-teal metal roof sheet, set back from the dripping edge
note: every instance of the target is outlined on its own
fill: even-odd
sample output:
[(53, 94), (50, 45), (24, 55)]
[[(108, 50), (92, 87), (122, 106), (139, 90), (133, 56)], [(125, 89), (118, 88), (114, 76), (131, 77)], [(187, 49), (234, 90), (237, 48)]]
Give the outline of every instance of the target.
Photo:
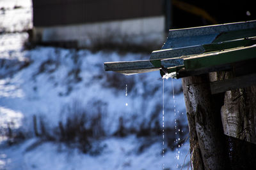
[[(162, 47), (162, 50), (168, 48), (184, 48), (186, 46), (205, 45), (214, 43), (215, 39), (218, 39), (220, 36), (225, 36), (227, 32), (228, 37), (225, 39), (223, 38), (222, 41), (227, 41), (228, 39), (230, 40), (237, 38), (245, 38), (246, 35), (244, 35), (244, 32), (250, 32), (247, 33), (247, 37), (253, 35), (255, 36), (256, 21), (253, 20), (249, 22), (210, 25), (204, 27), (193, 27), (188, 29), (171, 29), (169, 31), (166, 42)], [(232, 38), (232, 36), (234, 36), (234, 38)]]

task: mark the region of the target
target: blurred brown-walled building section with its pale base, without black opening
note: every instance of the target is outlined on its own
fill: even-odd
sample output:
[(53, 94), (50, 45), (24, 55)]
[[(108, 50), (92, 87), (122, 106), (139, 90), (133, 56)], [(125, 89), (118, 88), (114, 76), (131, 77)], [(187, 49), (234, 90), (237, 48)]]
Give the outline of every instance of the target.
[(33, 24), (37, 40), (75, 41), (81, 47), (102, 37), (138, 42), (151, 34), (163, 39), (165, 26), (159, 0), (36, 0)]

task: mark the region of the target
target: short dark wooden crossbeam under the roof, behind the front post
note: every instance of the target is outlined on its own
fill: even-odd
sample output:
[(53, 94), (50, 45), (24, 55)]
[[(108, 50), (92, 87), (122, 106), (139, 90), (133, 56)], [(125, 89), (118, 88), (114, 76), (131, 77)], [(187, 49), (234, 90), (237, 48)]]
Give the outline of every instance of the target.
[(228, 90), (241, 89), (253, 85), (256, 85), (256, 74), (210, 82), (212, 94), (218, 94)]

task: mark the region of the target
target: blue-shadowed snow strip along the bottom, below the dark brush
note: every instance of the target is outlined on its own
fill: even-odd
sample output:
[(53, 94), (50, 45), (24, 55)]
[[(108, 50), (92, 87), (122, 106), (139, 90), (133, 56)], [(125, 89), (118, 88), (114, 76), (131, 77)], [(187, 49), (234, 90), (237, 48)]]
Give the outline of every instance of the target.
[[(175, 167), (177, 162), (173, 152), (166, 152), (161, 156), (161, 147), (154, 143), (145, 152), (138, 154), (138, 139), (110, 138), (102, 141), (106, 146), (103, 153), (96, 156), (81, 154), (79, 150), (70, 150), (65, 145), (55, 143), (40, 143), (30, 139), (19, 146), (5, 148), (0, 153), (1, 166), (8, 169), (166, 169)], [(33, 150), (29, 146), (34, 145)], [(181, 164), (188, 154), (188, 143), (182, 147)], [(186, 160), (188, 160), (189, 155)], [(6, 160), (5, 162), (3, 160)], [(4, 162), (4, 163), (3, 163)], [(45, 163), (47, 162), (47, 164)]]

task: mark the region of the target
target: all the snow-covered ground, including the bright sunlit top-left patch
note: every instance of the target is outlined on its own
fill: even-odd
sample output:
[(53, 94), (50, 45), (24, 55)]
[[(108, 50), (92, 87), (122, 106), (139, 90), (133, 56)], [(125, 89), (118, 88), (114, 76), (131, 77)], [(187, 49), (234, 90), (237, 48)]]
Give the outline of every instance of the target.
[[(30, 27), (31, 2), (0, 0), (2, 7), (7, 10), (1, 13), (0, 22), (4, 21), (2, 25), (8, 33), (0, 34), (0, 169), (176, 169), (177, 164), (180, 169), (182, 164), (188, 165), (188, 142), (173, 151), (165, 143), (163, 157), (162, 136), (113, 136), (120, 118), (125, 129), (134, 131), (162, 123), (163, 80), (159, 72), (123, 76), (104, 71), (104, 62), (148, 59), (148, 55), (43, 46), (25, 50), (22, 45), (28, 34), (11, 32)], [(19, 17), (20, 13), (25, 13), (24, 17)], [(14, 27), (15, 16), (19, 20)], [(181, 125), (187, 124), (181, 82), (173, 80), (173, 84), (175, 107), (172, 80), (164, 81), (164, 128), (171, 129), (175, 129), (177, 118)], [(64, 110), (72, 103), (78, 103), (89, 117), (102, 114), (106, 134), (95, 141), (99, 155), (35, 137), (34, 115), (42, 118), (51, 131), (70, 117)], [(8, 146), (8, 129), (22, 129), (26, 140)], [(175, 139), (179, 140), (179, 136)], [(151, 144), (138, 152), (148, 141)]]

